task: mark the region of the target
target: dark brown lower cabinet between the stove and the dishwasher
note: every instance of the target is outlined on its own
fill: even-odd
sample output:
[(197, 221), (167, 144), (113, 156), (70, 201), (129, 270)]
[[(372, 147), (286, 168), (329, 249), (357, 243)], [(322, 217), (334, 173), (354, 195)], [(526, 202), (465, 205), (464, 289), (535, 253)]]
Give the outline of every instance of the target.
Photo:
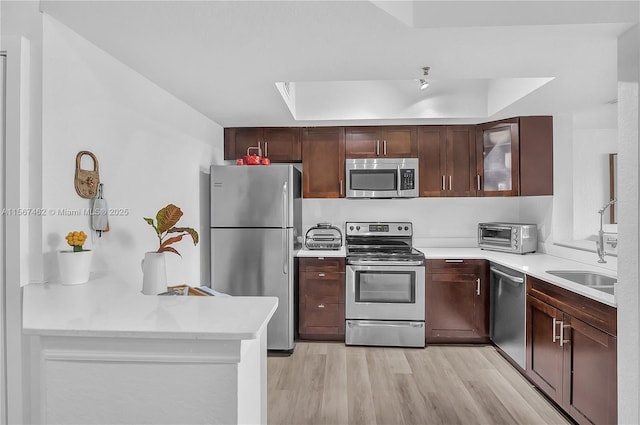
[(486, 260), (427, 260), (426, 340), (488, 342)]

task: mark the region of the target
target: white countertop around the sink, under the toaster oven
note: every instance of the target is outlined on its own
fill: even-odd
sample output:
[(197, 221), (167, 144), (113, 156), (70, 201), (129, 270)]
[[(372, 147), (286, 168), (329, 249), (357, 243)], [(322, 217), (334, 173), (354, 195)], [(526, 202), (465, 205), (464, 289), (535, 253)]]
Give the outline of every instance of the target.
[(537, 277), (538, 279), (546, 282), (553, 283), (554, 285), (568, 289), (577, 294), (584, 295), (596, 301), (600, 301), (612, 307), (617, 307), (614, 295), (607, 294), (606, 292), (602, 292), (588, 286), (580, 285), (579, 283), (571, 282), (570, 280), (559, 278), (546, 272), (546, 270), (581, 270), (593, 271), (607, 276), (616, 277), (611, 273), (611, 270), (602, 267), (591, 266), (589, 264), (542, 253), (520, 255), (507, 252), (487, 251), (480, 248), (421, 248), (419, 246), (416, 247), (416, 249), (424, 252), (425, 257), (428, 260), (442, 258), (476, 258), (489, 260)]

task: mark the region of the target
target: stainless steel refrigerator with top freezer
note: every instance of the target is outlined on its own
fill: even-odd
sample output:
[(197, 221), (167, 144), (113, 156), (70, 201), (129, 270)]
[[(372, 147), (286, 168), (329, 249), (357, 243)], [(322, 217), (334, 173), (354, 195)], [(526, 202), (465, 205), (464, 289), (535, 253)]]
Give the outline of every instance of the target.
[(300, 176), (293, 164), (211, 166), (211, 287), (278, 297), (267, 329), (269, 350), (294, 348)]

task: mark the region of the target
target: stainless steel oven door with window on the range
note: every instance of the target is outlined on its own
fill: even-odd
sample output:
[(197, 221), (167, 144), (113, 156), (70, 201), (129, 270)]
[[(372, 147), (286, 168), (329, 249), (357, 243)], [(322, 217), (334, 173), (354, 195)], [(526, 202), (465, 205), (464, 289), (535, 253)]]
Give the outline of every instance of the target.
[(346, 271), (347, 319), (424, 321), (424, 265), (348, 265)]

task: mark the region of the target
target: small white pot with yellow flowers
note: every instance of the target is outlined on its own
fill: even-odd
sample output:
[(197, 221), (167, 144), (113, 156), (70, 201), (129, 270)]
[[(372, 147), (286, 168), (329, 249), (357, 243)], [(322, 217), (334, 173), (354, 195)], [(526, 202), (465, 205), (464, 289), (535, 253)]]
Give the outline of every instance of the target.
[(58, 251), (60, 283), (64, 285), (85, 283), (89, 280), (93, 254), (93, 251), (83, 248), (87, 234), (83, 231), (72, 231), (65, 239), (73, 249)]

